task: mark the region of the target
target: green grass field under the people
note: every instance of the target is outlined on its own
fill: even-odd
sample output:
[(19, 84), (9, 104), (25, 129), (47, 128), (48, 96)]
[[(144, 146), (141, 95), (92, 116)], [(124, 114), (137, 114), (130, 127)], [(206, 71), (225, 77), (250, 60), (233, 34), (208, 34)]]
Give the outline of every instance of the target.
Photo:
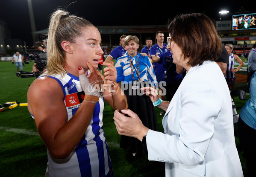
[[(31, 71), (32, 63), (26, 64), (24, 71)], [(16, 76), (15, 65), (10, 61), (0, 61), (0, 104), (18, 101), (26, 103), (26, 93), (29, 84), (35, 78), (20, 78)], [(237, 86), (246, 90), (246, 83)], [(40, 93), (38, 93), (40, 94)], [(247, 96), (247, 99), (249, 96)], [(237, 111), (246, 101), (235, 97)], [(50, 103), (42, 103), (50, 104)], [(158, 131), (163, 132), (160, 109), (156, 107)], [(165, 165), (163, 162), (148, 161), (147, 155), (132, 157), (129, 150), (119, 148), (118, 135), (113, 121), (114, 111), (105, 103), (103, 112), (103, 128), (109, 145), (109, 154), (115, 177), (164, 177)], [(235, 136), (237, 125), (235, 125)], [(239, 151), (239, 140), (235, 137)], [(244, 165), (243, 152), (239, 152), (241, 163)], [(37, 133), (34, 119), (30, 116), (27, 107), (15, 107), (0, 112), (0, 171), (1, 177), (44, 177), (47, 166), (46, 147)]]

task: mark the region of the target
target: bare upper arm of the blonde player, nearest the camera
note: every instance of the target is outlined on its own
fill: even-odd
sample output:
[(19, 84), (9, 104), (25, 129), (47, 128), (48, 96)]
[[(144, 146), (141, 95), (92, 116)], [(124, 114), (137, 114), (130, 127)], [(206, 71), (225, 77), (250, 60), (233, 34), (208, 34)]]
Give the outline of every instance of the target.
[(43, 78), (31, 84), (28, 104), (29, 112), (34, 116), (38, 132), (44, 142), (53, 139), (57, 131), (68, 121), (62, 88), (51, 78)]

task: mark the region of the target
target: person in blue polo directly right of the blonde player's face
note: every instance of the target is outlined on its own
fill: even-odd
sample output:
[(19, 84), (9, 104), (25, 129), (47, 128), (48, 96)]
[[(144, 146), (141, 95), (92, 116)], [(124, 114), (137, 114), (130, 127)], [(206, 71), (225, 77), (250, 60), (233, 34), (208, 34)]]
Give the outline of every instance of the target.
[(126, 35), (121, 35), (120, 37), (120, 46), (116, 47), (112, 50), (112, 52), (107, 56), (105, 62), (110, 63), (113, 59), (118, 59), (121, 56), (124, 56), (127, 52), (125, 46), (124, 46), (124, 38), (126, 38)]

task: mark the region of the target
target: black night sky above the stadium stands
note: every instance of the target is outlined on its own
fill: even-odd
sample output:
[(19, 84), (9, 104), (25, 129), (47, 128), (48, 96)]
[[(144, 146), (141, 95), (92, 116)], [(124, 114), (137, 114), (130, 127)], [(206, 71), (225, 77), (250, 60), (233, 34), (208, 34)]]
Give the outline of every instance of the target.
[[(74, 2), (74, 3), (72, 3)], [(219, 11), (256, 13), (255, 6), (244, 3), (215, 1), (162, 0), (32, 0), (36, 31), (47, 29), (50, 14), (57, 8), (84, 17), (95, 26), (165, 25), (169, 18), (181, 13), (204, 13), (218, 20)], [(235, 1), (233, 1), (235, 2)], [(242, 2), (242, 1), (241, 1)], [(0, 19), (7, 23), (11, 38), (18, 38), (32, 45), (31, 25), (27, 0), (1, 0)], [(231, 18), (230, 18), (231, 20)]]

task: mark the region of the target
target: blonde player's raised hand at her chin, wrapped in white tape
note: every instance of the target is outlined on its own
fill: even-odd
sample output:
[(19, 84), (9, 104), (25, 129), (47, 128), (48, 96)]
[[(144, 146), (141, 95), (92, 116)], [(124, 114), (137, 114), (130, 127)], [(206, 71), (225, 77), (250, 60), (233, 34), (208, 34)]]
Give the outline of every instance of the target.
[(89, 62), (87, 62), (87, 66), (91, 72), (88, 75), (88, 70), (85, 72), (82, 67), (79, 67), (79, 80), (82, 90), (85, 92), (85, 95), (101, 96), (101, 86), (104, 84), (104, 81)]

